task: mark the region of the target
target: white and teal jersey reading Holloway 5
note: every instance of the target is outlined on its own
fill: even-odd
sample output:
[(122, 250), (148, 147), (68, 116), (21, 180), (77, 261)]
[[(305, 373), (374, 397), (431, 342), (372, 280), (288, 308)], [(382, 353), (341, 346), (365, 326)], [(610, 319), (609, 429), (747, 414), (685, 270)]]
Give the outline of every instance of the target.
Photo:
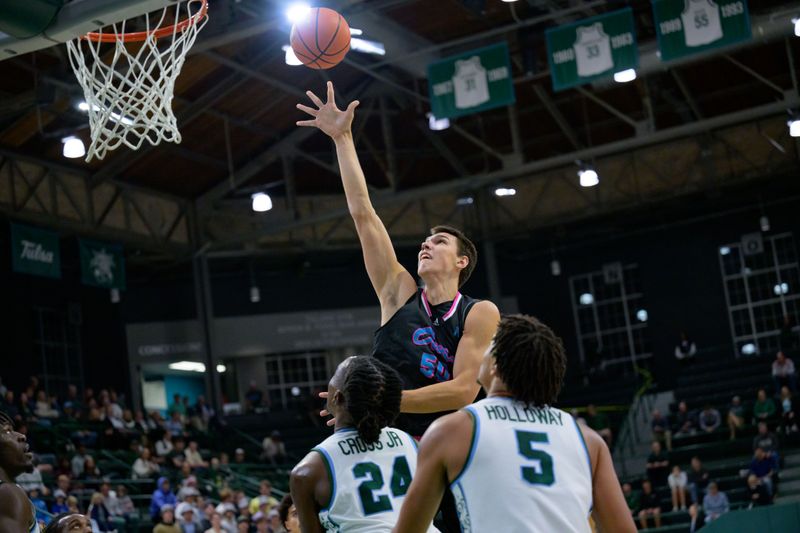
[(462, 532), (591, 532), (591, 460), (568, 413), (497, 396), (465, 409), (472, 443), (450, 486)]

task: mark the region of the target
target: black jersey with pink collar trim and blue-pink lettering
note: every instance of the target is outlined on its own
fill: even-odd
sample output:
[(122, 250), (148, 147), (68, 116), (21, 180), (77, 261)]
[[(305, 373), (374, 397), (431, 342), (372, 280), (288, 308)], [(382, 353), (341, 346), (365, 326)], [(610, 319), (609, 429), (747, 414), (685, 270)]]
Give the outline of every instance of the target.
[[(400, 374), (403, 389), (418, 389), (453, 379), (458, 341), (472, 306), (480, 300), (456, 294), (452, 302), (430, 305), (419, 289), (375, 332), (372, 355)], [(401, 414), (394, 423), (415, 437), (447, 412)]]

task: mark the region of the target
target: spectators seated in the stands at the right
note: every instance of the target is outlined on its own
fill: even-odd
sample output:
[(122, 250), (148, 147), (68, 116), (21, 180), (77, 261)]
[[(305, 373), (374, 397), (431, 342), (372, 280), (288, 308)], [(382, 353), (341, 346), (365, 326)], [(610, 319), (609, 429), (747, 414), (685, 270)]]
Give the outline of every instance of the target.
[[(683, 339), (676, 347), (676, 357), (691, 359), (693, 343)], [(725, 491), (712, 479), (703, 466), (700, 457), (693, 457), (686, 471), (682, 465), (671, 463), (669, 451), (676, 442), (685, 437), (702, 436), (713, 438), (719, 435), (735, 440), (737, 434), (748, 427), (756, 428), (753, 437), (752, 456), (739, 471), (741, 486), (745, 489), (748, 503), (746, 507), (770, 505), (778, 492), (781, 465), (781, 442), (791, 442), (798, 437), (798, 423), (795, 415), (793, 395), (796, 389), (794, 363), (782, 351), (778, 352), (772, 363), (774, 389), (758, 390), (752, 399), (752, 407), (747, 409), (740, 396), (733, 396), (723, 415), (711, 404), (691, 409), (685, 401), (679, 401), (672, 416), (652, 412), (651, 453), (647, 457), (645, 477), (640, 490), (634, 483), (623, 484), (623, 493), (628, 507), (638, 518), (639, 525), (647, 528), (652, 524), (660, 527), (662, 509), (658, 489), (669, 489), (672, 511), (685, 511), (691, 518), (690, 531), (695, 531), (702, 523), (716, 520), (731, 509)], [(723, 422), (726, 422), (723, 425)]]

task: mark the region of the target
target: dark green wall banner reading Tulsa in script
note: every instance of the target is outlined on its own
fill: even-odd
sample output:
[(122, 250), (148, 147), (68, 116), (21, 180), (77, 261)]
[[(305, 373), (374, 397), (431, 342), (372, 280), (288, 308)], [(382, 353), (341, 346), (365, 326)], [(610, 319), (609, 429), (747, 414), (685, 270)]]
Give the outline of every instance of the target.
[(61, 245), (58, 234), (30, 226), (11, 224), (11, 267), (14, 272), (61, 277)]

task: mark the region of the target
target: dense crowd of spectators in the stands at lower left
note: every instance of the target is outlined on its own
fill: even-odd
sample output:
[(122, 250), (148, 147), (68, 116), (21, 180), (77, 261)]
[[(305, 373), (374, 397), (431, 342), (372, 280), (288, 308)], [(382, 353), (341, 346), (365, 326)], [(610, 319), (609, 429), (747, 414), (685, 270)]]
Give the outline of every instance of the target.
[[(250, 396), (256, 400), (255, 394)], [(219, 423), (202, 396), (190, 402), (176, 394), (162, 416), (131, 410), (113, 389), (87, 388), (80, 394), (69, 385), (58, 398), (31, 377), (18, 394), (0, 381), (0, 410), (37, 452), (36, 468), (16, 481), (30, 496), (42, 525), (62, 513), (83, 513), (97, 532), (139, 531), (147, 519), (153, 524), (148, 527), (159, 533), (299, 531), (291, 498), (279, 502), (270, 481), (260, 482), (258, 494), (248, 496), (242, 490), (245, 483), (232, 466), (247, 464), (243, 449), (234, 451), (232, 462), (225, 452), (201, 451), (200, 441)], [(29, 431), (43, 427), (65, 432), (67, 444), (44, 453), (36, 442), (39, 433)], [(100, 455), (104, 451), (122, 454), (114, 456), (116, 461), (132, 456), (125, 479), (101, 470), (98, 459), (108, 459)], [(260, 459), (273, 465), (288, 460), (279, 432), (264, 439)], [(138, 487), (139, 508), (129, 487)]]

